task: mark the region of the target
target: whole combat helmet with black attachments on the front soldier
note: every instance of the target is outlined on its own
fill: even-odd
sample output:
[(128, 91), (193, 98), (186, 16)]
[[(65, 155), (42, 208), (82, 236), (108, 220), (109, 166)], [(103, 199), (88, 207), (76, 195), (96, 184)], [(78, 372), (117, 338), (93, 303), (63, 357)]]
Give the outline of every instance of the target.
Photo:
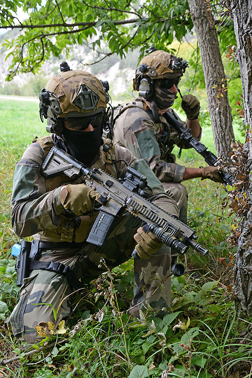
[(107, 81), (83, 70), (70, 70), (67, 62), (62, 62), (60, 73), (39, 93), (40, 118), (42, 122), (47, 119), (47, 132), (60, 135), (64, 119), (79, 130), (91, 117), (93, 122), (101, 122), (110, 98), (108, 90)]

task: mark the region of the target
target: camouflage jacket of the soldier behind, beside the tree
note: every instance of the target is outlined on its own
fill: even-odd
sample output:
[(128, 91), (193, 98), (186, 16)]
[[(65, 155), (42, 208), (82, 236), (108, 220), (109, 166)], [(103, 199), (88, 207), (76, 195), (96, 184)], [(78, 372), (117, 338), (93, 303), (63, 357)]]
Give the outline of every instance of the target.
[[(114, 110), (114, 140), (131, 150), (138, 159), (145, 159), (161, 182), (181, 182), (185, 167), (175, 163), (175, 155), (171, 152), (175, 145), (190, 146), (181, 142), (163, 116), (160, 116), (160, 123), (154, 123), (148, 110), (142, 98), (118, 105)], [(178, 119), (171, 108), (168, 111)], [(186, 123), (181, 123), (186, 128)], [(197, 139), (200, 138), (201, 134)]]

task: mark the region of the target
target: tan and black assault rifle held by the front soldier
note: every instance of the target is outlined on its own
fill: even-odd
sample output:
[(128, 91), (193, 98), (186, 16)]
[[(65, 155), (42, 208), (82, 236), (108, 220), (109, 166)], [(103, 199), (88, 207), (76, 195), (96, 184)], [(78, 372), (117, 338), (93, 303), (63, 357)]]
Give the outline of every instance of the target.
[(88, 168), (67, 152), (54, 146), (51, 148), (42, 167), (44, 177), (53, 177), (65, 173), (69, 177), (83, 177), (83, 183), (100, 193), (99, 214), (89, 233), (87, 241), (103, 245), (114, 227), (115, 221), (127, 211), (149, 225), (158, 240), (172, 247), (180, 255), (192, 247), (206, 256), (208, 249), (197, 243), (195, 230), (166, 213), (143, 196), (147, 178), (131, 167), (123, 182), (97, 168)]

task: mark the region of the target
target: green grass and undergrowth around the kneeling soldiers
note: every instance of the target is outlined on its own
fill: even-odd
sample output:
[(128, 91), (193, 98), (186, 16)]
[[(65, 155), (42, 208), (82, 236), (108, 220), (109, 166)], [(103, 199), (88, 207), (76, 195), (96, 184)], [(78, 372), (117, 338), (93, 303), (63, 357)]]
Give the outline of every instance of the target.
[[(3, 106), (4, 105), (4, 106)], [(189, 225), (208, 257), (194, 251), (180, 258), (186, 274), (172, 278), (172, 312), (163, 320), (151, 308), (136, 321), (125, 309), (133, 296), (132, 261), (106, 272), (75, 297), (75, 311), (61, 333), (41, 342), (52, 345), (25, 355), (13, 337), (8, 317), (16, 303), (15, 260), (11, 246), (18, 241), (10, 222), (10, 200), (15, 162), (35, 136), (46, 135), (38, 104), (1, 100), (0, 137), (0, 260), (1, 356), (3, 377), (106, 378), (228, 378), (251, 376), (251, 323), (236, 319), (230, 254), (226, 242), (232, 219), (221, 208), (223, 188), (210, 180), (185, 181)], [(239, 131), (236, 130), (236, 135)], [(238, 137), (240, 139), (240, 136)], [(204, 144), (214, 152), (212, 131), (203, 129)], [(176, 150), (176, 153), (178, 149)], [(205, 165), (193, 150), (183, 150), (180, 164)], [(74, 328), (73, 328), (74, 327)], [(71, 331), (71, 328), (72, 331)], [(34, 346), (34, 350), (40, 346)], [(233, 375), (232, 375), (233, 374)]]

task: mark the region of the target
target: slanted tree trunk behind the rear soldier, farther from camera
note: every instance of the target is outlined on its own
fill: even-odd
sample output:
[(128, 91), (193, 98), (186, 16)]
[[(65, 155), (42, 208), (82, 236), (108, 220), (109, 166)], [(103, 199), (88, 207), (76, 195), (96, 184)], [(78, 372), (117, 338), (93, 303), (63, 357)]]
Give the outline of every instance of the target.
[(206, 0), (188, 0), (188, 4), (201, 52), (216, 153), (230, 161), (232, 115), (213, 14)]

